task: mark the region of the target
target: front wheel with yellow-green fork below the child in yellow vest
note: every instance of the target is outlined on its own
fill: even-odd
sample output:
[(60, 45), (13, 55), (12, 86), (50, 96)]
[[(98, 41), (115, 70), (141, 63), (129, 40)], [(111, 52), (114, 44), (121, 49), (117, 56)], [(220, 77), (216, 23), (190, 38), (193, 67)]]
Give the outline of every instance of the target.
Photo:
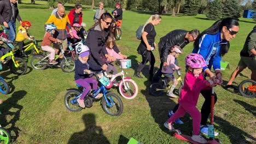
[[(14, 62), (18, 67), (15, 67)], [(24, 75), (27, 72), (27, 63), (24, 59), (19, 57), (14, 57), (14, 62), (11, 60), (9, 63), (11, 73), (15, 75)]]

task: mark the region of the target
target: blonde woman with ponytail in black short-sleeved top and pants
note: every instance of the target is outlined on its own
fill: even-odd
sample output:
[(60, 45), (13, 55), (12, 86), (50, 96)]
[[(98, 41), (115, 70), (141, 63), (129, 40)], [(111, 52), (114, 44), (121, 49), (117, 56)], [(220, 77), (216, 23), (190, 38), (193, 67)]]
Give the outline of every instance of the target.
[(153, 50), (156, 47), (155, 44), (155, 27), (161, 22), (160, 15), (152, 15), (149, 17), (148, 21), (145, 23), (144, 28), (142, 30), (142, 40), (138, 46), (138, 53), (142, 56), (142, 62), (139, 64), (138, 69), (135, 70), (134, 76), (139, 79), (142, 76), (139, 74), (141, 70), (145, 67), (146, 63), (149, 61), (149, 80), (153, 79), (153, 70), (155, 64), (155, 57), (153, 55)]

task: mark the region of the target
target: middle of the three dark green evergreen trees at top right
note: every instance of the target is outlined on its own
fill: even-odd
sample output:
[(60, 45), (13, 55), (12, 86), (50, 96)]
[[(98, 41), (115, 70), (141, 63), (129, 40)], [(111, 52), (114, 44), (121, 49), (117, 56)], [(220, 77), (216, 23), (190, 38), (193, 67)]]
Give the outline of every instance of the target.
[(222, 2), (220, 0), (215, 0), (210, 3), (206, 17), (209, 20), (219, 20), (222, 18)]

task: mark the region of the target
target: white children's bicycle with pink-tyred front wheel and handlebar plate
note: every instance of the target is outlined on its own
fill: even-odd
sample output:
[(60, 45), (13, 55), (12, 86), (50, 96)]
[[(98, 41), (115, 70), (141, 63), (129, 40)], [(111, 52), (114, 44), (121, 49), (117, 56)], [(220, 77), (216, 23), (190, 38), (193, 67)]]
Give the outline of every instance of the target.
[[(121, 67), (121, 72), (115, 75), (107, 75), (106, 77), (110, 80), (108, 85), (106, 85), (106, 88), (111, 88), (112, 86), (119, 87), (119, 93), (124, 97), (125, 99), (134, 99), (138, 95), (138, 86), (135, 81), (131, 79), (131, 77), (125, 77), (125, 73), (123, 70), (123, 65), (121, 62), (126, 62), (130, 59), (124, 59), (124, 60), (117, 60), (117, 64), (119, 67)], [(130, 61), (129, 64), (126, 64), (125, 66), (129, 65), (126, 68), (131, 67)], [(121, 76), (121, 81), (118, 83), (113, 83), (113, 81), (118, 77)]]

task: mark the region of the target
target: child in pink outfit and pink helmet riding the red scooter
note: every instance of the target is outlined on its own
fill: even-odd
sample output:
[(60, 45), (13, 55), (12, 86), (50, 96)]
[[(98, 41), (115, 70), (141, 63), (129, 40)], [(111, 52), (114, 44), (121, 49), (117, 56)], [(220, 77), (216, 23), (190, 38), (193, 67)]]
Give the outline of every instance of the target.
[(184, 87), (181, 91), (178, 103), (179, 108), (167, 122), (165, 127), (171, 131), (174, 130), (172, 123), (175, 119), (182, 117), (186, 112), (193, 119), (193, 136), (191, 139), (196, 142), (206, 143), (207, 141), (200, 135), (201, 113), (196, 108), (200, 91), (216, 85), (212, 80), (203, 79), (202, 68), (206, 66), (205, 59), (197, 53), (190, 53), (185, 58), (186, 68), (188, 72), (184, 78)]

